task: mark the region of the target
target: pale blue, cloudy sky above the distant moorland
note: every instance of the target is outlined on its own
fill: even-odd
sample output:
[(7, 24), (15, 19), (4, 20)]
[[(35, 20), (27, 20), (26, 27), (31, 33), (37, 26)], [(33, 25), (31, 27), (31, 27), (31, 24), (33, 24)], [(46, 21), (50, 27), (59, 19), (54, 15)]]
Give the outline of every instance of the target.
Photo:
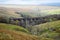
[(39, 5), (47, 3), (60, 3), (60, 0), (0, 0), (0, 4)]

